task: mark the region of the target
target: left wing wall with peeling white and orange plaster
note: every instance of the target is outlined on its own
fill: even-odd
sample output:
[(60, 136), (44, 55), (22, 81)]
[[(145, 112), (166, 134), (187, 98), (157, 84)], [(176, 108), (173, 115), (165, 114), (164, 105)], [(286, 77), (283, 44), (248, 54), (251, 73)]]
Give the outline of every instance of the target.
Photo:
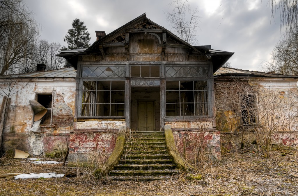
[[(4, 80), (0, 81), (0, 85), (8, 87)], [(19, 78), (10, 93), (4, 150), (17, 148), (32, 155), (41, 155), (66, 149), (69, 131), (73, 130), (75, 87), (74, 78)], [(29, 100), (36, 99), (36, 94), (41, 93), (53, 94), (52, 124), (41, 125), (41, 133), (33, 133), (30, 128), (34, 114)], [(0, 103), (2, 100), (3, 96)]]

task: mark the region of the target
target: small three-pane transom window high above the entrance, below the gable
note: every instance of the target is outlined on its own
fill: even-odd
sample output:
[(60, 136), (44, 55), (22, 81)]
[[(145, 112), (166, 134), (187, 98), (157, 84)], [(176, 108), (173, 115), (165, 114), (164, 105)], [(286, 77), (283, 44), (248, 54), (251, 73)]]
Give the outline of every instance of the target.
[(131, 77), (159, 77), (158, 65), (132, 65)]

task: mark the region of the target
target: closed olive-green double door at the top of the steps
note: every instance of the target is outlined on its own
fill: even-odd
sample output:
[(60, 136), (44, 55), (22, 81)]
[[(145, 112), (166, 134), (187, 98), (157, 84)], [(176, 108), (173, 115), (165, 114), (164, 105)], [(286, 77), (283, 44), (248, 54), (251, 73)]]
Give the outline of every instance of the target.
[(138, 101), (138, 130), (155, 131), (154, 101)]

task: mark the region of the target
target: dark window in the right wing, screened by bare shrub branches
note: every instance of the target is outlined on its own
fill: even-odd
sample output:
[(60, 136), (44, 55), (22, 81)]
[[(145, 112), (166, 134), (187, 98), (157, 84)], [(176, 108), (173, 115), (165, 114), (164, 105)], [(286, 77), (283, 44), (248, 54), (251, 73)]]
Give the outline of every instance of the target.
[(240, 94), (240, 108), (243, 125), (256, 123), (255, 95)]

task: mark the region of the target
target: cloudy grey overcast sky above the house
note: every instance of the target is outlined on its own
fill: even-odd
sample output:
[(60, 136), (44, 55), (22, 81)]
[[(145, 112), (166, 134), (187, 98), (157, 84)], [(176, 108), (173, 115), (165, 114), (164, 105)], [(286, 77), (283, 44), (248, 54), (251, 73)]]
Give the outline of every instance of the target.
[[(24, 0), (42, 25), (40, 39), (60, 42), (75, 18), (85, 22), (95, 40), (95, 31), (106, 34), (146, 12), (147, 18), (171, 30), (165, 12), (172, 0)], [(200, 17), (196, 45), (232, 51), (233, 68), (261, 70), (281, 37), (279, 15), (271, 17), (267, 0), (188, 0)], [(173, 31), (172, 31), (173, 32)]]

